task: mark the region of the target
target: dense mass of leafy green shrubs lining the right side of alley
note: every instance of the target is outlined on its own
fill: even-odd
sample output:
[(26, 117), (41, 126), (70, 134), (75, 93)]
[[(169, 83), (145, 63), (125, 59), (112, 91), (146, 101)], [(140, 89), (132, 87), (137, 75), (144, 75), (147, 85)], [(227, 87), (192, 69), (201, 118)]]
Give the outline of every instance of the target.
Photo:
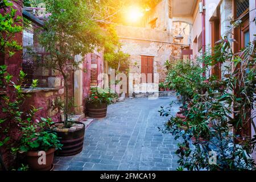
[[(182, 96), (189, 96), (189, 109), (183, 113), (185, 119), (171, 117), (165, 128), (160, 130), (174, 135), (175, 139), (184, 140), (178, 144), (176, 151), (180, 157), (180, 168), (255, 170), (251, 153), (255, 151), (256, 136), (251, 138), (250, 134), (246, 134), (248, 127), (251, 127), (248, 123), (253, 124), (254, 117), (251, 110), (255, 102), (255, 43), (234, 55), (229, 41), (232, 40), (225, 36), (214, 47), (214, 54), (205, 57), (207, 67), (230, 63), (225, 67), (226, 75), (221, 80), (215, 76), (207, 79), (202, 74), (204, 70), (198, 69), (201, 76), (193, 76), (195, 85), (189, 81), (192, 78), (191, 69), (184, 71), (183, 75), (181, 71), (187, 68), (183, 65), (171, 71), (172, 76), (176, 74), (180, 77), (181, 85), (186, 89), (183, 92), (179, 90), (178, 82), (172, 82)], [(197, 60), (204, 61), (204, 57)], [(232, 64), (235, 69), (232, 69)], [(187, 80), (187, 86), (183, 79)], [(159, 112), (170, 117), (171, 106), (162, 107)], [(253, 128), (256, 130), (255, 126)]]

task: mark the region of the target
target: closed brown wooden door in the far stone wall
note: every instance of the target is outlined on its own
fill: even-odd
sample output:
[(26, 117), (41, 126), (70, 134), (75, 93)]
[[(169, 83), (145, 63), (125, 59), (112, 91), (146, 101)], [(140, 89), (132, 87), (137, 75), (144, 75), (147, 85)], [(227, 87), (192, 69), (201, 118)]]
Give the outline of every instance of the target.
[[(154, 82), (154, 57), (153, 56), (141, 56), (141, 73), (146, 75), (146, 82)], [(144, 82), (144, 79), (142, 79)]]

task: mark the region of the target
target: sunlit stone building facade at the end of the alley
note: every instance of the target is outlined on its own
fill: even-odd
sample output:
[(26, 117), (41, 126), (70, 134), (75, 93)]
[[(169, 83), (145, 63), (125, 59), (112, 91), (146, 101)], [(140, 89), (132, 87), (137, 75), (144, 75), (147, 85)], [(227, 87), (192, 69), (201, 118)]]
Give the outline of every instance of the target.
[[(173, 22), (169, 5), (170, 1), (168, 0), (160, 1), (154, 9), (144, 14), (141, 23), (137, 23), (137, 26), (131, 24), (131, 26), (119, 25), (116, 27), (122, 44), (121, 50), (130, 55), (129, 73), (151, 74), (154, 80), (147, 80), (146, 87), (154, 82), (157, 90), (159, 82), (163, 82), (166, 78), (167, 70), (164, 63), (167, 60), (182, 59), (181, 50), (188, 49), (190, 26), (184, 22)], [(180, 34), (182, 34), (183, 39), (175, 40), (175, 36)], [(152, 59), (153, 61), (150, 63), (150, 61), (143, 59)], [(153, 67), (151, 71), (149, 70), (150, 67)], [(137, 77), (143, 76), (141, 74)], [(151, 92), (142, 90), (143, 84), (142, 82), (135, 82), (134, 92)], [(139, 90), (135, 90), (135, 87)], [(154, 91), (156, 90), (154, 89)]]

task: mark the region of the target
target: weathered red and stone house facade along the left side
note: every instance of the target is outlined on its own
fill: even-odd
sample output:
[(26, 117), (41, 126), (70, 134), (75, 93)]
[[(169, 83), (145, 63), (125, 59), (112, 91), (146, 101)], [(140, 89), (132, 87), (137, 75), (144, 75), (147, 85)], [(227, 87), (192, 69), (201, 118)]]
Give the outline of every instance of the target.
[[(0, 63), (7, 65), (7, 71), (14, 76), (13, 81), (18, 78), (20, 70), (27, 73), (27, 82), (31, 82), (32, 79), (39, 80), (37, 88), (23, 89), (25, 94), (30, 95), (23, 104), (24, 110), (29, 109), (27, 107), (28, 105), (42, 108), (36, 113), (35, 117), (51, 117), (53, 121), (59, 122), (63, 119), (62, 111), (59, 110), (60, 107), (58, 104), (59, 101), (63, 101), (64, 99), (65, 89), (63, 77), (57, 71), (47, 70), (36, 65), (27, 66), (28, 62), (34, 64), (31, 63), (31, 60), (34, 60), (34, 58), (31, 58), (29, 53), (27, 53), (27, 47), (31, 47), (37, 51), (40, 49), (36, 41), (37, 33), (35, 27), (42, 28), (44, 19), (34, 15), (38, 9), (34, 11), (31, 8), (23, 7), (23, 1), (13, 1), (13, 3), (14, 9), (18, 10), (17, 15), (23, 19), (24, 26), (23, 31), (16, 34), (14, 39), (20, 45), (23, 45), (23, 50), (16, 52), (13, 57), (8, 59), (6, 58), (7, 56), (1, 55)], [(28, 27), (26, 27), (25, 21), (30, 23)], [(43, 53), (45, 52), (38, 51), (36, 53), (38, 53), (39, 57), (43, 57)], [(69, 86), (69, 99), (73, 100), (72, 114), (79, 115), (80, 120), (85, 117), (85, 98), (88, 97), (90, 86), (98, 86), (102, 82), (99, 80), (100, 77), (98, 78), (98, 75), (103, 72), (104, 64), (102, 55), (102, 52), (94, 52), (85, 56), (75, 56), (75, 60), (84, 60), (80, 65), (80, 70), (70, 71), (71, 76), (68, 80), (68, 85), (71, 85)], [(26, 86), (29, 86), (29, 84)]]

